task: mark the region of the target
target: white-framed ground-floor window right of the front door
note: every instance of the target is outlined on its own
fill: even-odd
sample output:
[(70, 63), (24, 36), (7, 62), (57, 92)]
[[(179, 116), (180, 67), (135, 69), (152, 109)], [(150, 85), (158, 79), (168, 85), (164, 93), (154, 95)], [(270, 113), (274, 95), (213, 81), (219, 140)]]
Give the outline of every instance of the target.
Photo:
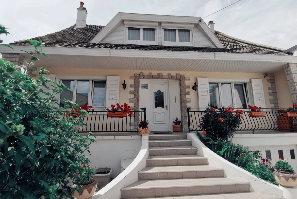
[(246, 83), (209, 82), (210, 104), (217, 107), (234, 107), (247, 109)]

